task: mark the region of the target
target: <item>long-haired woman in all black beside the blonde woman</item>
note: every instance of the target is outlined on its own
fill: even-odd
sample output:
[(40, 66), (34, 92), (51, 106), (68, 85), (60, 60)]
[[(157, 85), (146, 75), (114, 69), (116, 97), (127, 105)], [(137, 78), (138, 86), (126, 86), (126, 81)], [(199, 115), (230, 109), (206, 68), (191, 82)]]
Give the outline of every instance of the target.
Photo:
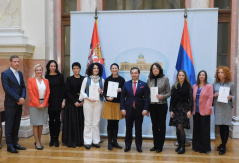
[(49, 129), (50, 143), (49, 146), (59, 147), (59, 134), (61, 128), (61, 109), (65, 107), (64, 95), (64, 77), (58, 71), (58, 65), (55, 60), (50, 60), (46, 65), (46, 75), (50, 85), (49, 97)]

